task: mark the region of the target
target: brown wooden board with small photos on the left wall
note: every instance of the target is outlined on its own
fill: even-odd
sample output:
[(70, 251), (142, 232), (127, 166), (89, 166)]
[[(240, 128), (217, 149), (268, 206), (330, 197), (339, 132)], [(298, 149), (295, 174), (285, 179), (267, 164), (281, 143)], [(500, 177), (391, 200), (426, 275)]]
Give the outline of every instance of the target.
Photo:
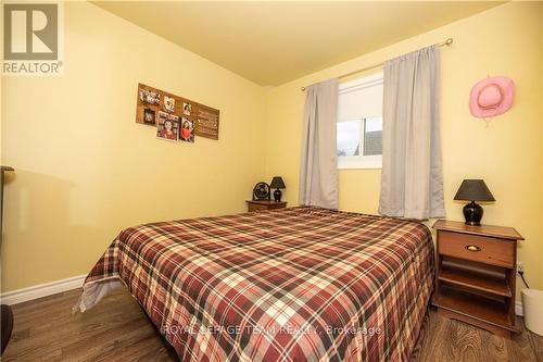
[(181, 137), (184, 124), (194, 125), (193, 133), (199, 137), (218, 139), (218, 110), (191, 101), (190, 99), (146, 86), (141, 83), (138, 84), (136, 123), (161, 127), (159, 122), (160, 113), (162, 113), (162, 115), (164, 115), (163, 113), (168, 113), (174, 118), (178, 117), (179, 140), (191, 141)]

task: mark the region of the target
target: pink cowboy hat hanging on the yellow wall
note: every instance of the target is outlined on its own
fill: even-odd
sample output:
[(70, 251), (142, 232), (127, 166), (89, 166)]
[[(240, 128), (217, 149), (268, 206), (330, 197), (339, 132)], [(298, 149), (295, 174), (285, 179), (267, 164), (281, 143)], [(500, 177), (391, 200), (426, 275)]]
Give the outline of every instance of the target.
[(513, 104), (515, 84), (508, 77), (479, 80), (469, 95), (469, 110), (476, 117), (492, 117), (507, 112)]

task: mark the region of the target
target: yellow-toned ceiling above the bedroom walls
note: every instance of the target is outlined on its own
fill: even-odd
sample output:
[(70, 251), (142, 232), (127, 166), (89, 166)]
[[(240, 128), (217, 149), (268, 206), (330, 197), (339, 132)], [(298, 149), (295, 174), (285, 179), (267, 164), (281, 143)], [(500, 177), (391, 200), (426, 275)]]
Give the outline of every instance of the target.
[(94, 1), (263, 86), (276, 86), (502, 2)]

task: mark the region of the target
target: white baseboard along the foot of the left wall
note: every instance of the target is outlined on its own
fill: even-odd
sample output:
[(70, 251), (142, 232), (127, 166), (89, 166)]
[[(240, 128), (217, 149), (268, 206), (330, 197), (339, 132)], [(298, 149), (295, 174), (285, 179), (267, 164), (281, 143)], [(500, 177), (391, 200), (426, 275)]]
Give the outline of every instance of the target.
[(86, 274), (78, 275), (66, 279), (39, 284), (28, 288), (3, 292), (0, 295), (0, 302), (2, 304), (12, 305), (33, 299), (52, 296), (58, 292), (77, 289), (83, 286), (83, 282), (85, 282), (86, 277)]

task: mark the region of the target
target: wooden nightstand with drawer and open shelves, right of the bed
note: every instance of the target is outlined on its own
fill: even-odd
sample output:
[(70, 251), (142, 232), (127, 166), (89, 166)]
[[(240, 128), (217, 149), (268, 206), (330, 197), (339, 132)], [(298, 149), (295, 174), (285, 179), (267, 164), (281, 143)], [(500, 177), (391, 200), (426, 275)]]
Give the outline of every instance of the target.
[(515, 324), (517, 240), (513, 227), (468, 226), (440, 220), (435, 258), (438, 314), (463, 321), (502, 337)]

